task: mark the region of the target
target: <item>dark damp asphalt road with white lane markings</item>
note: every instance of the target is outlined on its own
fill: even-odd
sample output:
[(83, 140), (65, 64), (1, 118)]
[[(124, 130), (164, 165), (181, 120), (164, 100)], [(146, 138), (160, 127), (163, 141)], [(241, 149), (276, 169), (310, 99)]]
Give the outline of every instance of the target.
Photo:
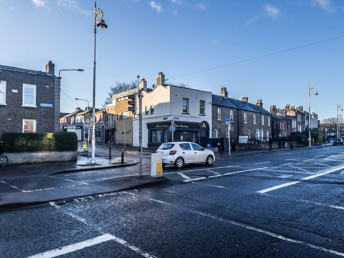
[[(149, 174), (149, 154), (143, 164)], [(11, 184), (33, 189), (137, 171)], [(166, 165), (163, 174), (163, 185), (1, 211), (0, 257), (344, 256), (343, 146), (218, 158), (180, 170)]]

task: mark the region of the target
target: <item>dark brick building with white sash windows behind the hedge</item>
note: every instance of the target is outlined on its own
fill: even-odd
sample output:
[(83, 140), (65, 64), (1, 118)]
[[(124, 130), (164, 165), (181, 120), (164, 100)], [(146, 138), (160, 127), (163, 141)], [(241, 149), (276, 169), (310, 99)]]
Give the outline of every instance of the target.
[(0, 65), (0, 134), (60, 131), (60, 78), (49, 61), (45, 72)]

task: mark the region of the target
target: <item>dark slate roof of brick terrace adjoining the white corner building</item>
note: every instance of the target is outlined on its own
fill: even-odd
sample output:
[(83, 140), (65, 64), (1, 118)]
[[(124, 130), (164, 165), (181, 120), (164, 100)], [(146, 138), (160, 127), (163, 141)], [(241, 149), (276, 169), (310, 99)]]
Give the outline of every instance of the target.
[(212, 94), (212, 105), (241, 109), (241, 110), (271, 115), (267, 110), (265, 110), (264, 108), (262, 108), (256, 104), (252, 104), (252, 103), (238, 100), (238, 99), (234, 99), (234, 98), (225, 98), (223, 96), (218, 96), (218, 95), (214, 95), (214, 94)]

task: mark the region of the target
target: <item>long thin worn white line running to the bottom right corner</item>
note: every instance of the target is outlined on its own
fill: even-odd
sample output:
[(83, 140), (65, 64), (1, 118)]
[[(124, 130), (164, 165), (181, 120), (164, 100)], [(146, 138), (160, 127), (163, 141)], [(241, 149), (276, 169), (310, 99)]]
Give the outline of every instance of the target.
[(263, 233), (263, 234), (266, 234), (266, 235), (269, 235), (269, 236), (272, 236), (272, 237), (275, 237), (275, 238), (278, 238), (278, 239), (281, 239), (281, 240), (289, 241), (289, 242), (292, 242), (292, 243), (295, 243), (295, 244), (300, 244), (300, 245), (307, 245), (307, 246), (309, 246), (311, 248), (314, 248), (314, 249), (317, 249), (317, 250), (321, 250), (321, 251), (324, 251), (324, 252), (330, 252), (331, 254), (335, 254), (335, 255), (339, 255), (339, 256), (344, 256), (343, 252), (338, 252), (338, 251), (335, 251), (335, 250), (327, 249), (327, 248), (324, 248), (324, 247), (321, 247), (321, 246), (316, 246), (316, 245), (313, 245), (313, 244), (310, 244), (310, 243), (307, 243), (307, 242), (303, 242), (303, 241), (300, 241), (300, 240), (296, 240), (296, 239), (292, 239), (292, 238), (285, 237), (285, 236), (282, 236), (282, 235), (278, 235), (278, 234), (275, 234), (275, 233), (272, 233), (272, 232), (269, 232), (269, 231), (266, 231), (266, 230), (262, 230), (262, 229), (257, 228), (257, 227), (247, 226), (247, 225), (245, 225), (243, 223), (229, 221), (227, 219), (222, 219), (222, 218), (219, 218), (219, 217), (216, 217), (216, 216), (213, 216), (213, 215), (210, 215), (210, 214), (202, 213), (202, 212), (194, 212), (194, 211), (191, 211), (191, 212), (199, 214), (199, 215), (202, 215), (202, 216), (205, 216), (205, 217), (217, 219), (219, 221), (223, 221), (223, 222), (235, 225), (235, 226), (240, 226), (240, 227), (244, 227), (246, 229), (254, 230), (256, 232)]

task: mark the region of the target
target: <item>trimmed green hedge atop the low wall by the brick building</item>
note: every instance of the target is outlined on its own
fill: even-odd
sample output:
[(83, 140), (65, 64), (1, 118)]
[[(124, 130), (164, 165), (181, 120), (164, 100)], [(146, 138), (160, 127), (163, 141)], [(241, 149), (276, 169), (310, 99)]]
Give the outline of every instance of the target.
[(76, 151), (75, 132), (3, 132), (4, 152)]

